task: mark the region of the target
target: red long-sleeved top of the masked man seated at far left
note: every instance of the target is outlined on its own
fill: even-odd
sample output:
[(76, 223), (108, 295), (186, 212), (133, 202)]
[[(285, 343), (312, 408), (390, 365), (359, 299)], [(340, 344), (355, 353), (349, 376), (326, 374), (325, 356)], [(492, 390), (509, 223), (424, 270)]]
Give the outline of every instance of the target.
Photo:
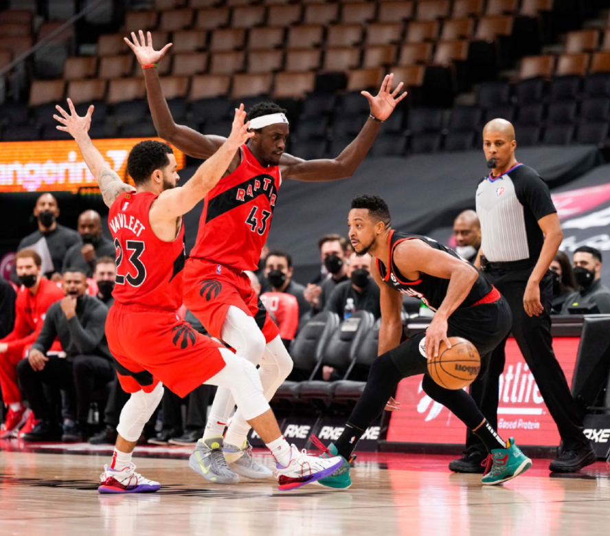
[(8, 351), (22, 355), (25, 347), (34, 343), (43, 328), (49, 306), (61, 300), (64, 295), (63, 290), (48, 279), (41, 279), (35, 296), (25, 287), (20, 287), (15, 301), (13, 331), (0, 342), (7, 344)]

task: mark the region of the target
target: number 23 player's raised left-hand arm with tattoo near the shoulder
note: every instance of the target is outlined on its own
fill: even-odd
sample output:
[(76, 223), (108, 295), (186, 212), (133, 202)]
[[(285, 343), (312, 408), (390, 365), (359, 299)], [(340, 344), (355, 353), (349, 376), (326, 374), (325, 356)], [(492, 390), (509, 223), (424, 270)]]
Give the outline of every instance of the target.
[(53, 117), (61, 123), (57, 126), (59, 131), (67, 132), (71, 137), (74, 137), (84, 163), (87, 164), (91, 175), (98, 181), (102, 199), (107, 206), (112, 205), (115, 199), (123, 192), (135, 192), (135, 188), (124, 183), (120, 177), (108, 166), (104, 157), (98, 149), (95, 148), (91, 138), (89, 137), (89, 127), (91, 126), (91, 115), (93, 115), (93, 106), (89, 107), (87, 114), (80, 117), (74, 109), (74, 104), (68, 99), (68, 107), (70, 113), (67, 113), (62, 107), (56, 106), (56, 109), (61, 114)]

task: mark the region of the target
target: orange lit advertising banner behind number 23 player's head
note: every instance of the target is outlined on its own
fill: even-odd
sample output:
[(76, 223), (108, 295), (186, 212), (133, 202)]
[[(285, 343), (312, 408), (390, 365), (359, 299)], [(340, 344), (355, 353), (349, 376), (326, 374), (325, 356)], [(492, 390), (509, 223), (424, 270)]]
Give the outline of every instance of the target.
[[(131, 148), (144, 139), (151, 138), (95, 139), (93, 144), (108, 167), (123, 181), (133, 184), (127, 174), (127, 157)], [(152, 139), (163, 142), (163, 139)], [(185, 155), (173, 149), (178, 169), (182, 169)], [(78, 192), (83, 187), (97, 187), (97, 182), (74, 140), (0, 143), (0, 192)]]

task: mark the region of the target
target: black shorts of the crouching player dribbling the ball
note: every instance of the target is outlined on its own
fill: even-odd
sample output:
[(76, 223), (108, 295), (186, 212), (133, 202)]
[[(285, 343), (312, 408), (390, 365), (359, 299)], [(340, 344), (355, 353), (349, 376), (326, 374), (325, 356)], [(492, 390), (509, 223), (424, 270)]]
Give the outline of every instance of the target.
[[(497, 302), (457, 309), (447, 321), (448, 337), (463, 337), (475, 345), (481, 356), (481, 373), (489, 361), (490, 354), (510, 332), (512, 312), (506, 299)], [(396, 348), (389, 355), (396, 368), (405, 377), (427, 372), (427, 359), (419, 345), (425, 333), (418, 333)]]

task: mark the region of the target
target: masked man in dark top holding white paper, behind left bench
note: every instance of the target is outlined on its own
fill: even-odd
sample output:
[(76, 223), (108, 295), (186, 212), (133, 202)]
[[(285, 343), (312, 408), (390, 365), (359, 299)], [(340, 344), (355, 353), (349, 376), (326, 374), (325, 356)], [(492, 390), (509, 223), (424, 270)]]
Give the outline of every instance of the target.
[[(23, 238), (17, 251), (20, 252), (26, 247), (34, 249), (43, 260), (43, 275), (52, 281), (59, 281), (63, 258), (70, 247), (80, 243), (80, 235), (57, 223), (59, 208), (52, 194), (42, 194), (38, 197), (34, 216), (38, 220), (38, 231)], [(10, 278), (12, 282), (19, 284), (14, 268)]]

